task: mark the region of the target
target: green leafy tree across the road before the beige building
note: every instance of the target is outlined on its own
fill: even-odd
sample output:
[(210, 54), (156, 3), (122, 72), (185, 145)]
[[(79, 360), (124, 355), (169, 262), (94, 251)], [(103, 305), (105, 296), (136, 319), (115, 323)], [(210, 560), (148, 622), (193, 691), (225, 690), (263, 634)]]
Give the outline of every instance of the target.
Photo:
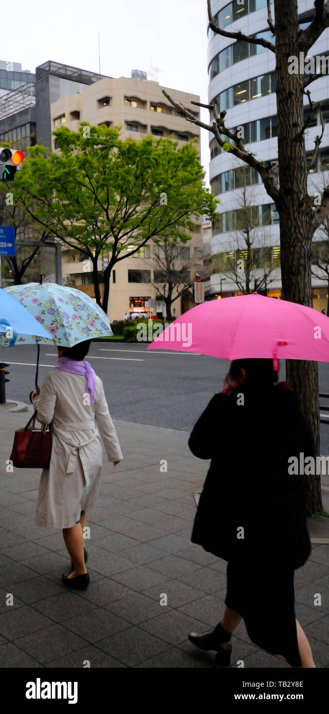
[[(64, 126), (54, 136), (59, 153), (31, 148), (15, 184), (18, 200), (61, 243), (92, 262), (96, 301), (107, 312), (116, 263), (154, 237), (186, 243), (193, 218), (213, 216), (216, 201), (204, 186), (192, 142), (178, 147), (153, 136), (123, 140), (120, 127), (86, 123), (79, 133)], [(108, 252), (103, 300), (97, 266), (102, 251)]]

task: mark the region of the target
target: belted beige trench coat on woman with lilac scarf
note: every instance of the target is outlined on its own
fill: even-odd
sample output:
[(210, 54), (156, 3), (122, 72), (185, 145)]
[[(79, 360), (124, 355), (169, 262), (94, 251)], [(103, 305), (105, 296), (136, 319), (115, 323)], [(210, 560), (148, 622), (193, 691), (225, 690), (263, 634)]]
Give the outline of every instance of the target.
[(71, 528), (96, 506), (101, 481), (103, 439), (108, 461), (123, 458), (116, 429), (97, 377), (94, 403), (88, 405), (86, 378), (60, 370), (44, 378), (34, 409), (41, 424), (53, 422), (49, 468), (44, 468), (36, 506), (36, 525)]

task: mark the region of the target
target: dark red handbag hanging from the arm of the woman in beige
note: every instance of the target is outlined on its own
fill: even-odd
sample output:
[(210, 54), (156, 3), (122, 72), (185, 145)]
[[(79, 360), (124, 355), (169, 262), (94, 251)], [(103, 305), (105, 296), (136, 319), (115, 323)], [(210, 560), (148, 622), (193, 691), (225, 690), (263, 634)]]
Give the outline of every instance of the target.
[(51, 424), (36, 428), (36, 414), (35, 411), (24, 428), (15, 431), (10, 458), (16, 468), (48, 468), (49, 466)]

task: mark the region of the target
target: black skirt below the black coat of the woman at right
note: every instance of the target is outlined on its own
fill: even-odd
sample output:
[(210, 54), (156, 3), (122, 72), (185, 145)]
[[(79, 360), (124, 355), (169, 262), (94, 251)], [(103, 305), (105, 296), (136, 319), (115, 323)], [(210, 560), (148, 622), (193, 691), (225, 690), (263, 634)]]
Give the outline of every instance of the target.
[(229, 562), (225, 604), (241, 615), (250, 640), (300, 667), (293, 568)]

